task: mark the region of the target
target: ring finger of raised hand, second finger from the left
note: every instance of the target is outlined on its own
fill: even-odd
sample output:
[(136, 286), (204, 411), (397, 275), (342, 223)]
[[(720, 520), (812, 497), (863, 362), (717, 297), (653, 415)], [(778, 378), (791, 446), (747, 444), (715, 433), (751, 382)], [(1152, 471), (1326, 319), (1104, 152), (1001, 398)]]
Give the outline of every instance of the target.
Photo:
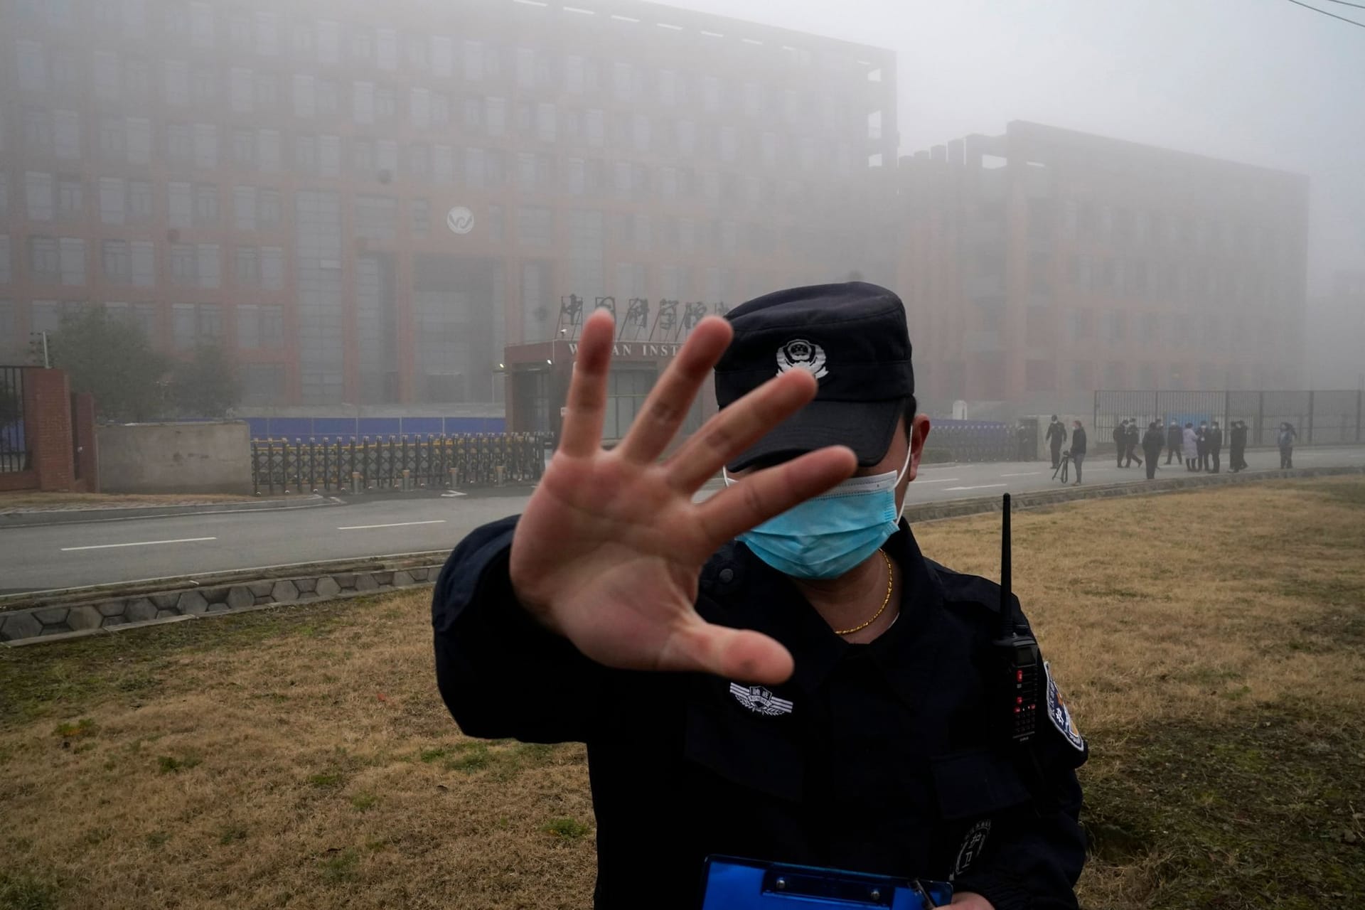
[(678, 356), (654, 383), (617, 452), (640, 464), (654, 461), (682, 426), (698, 389), (730, 344), (730, 323), (707, 317), (692, 329)]

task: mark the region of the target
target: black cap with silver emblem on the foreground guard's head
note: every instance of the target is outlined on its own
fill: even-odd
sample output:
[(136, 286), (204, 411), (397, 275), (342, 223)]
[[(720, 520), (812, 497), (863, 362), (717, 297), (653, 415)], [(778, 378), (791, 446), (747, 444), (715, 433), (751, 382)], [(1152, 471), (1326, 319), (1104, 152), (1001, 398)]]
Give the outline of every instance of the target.
[(864, 468), (886, 456), (915, 394), (900, 297), (861, 281), (820, 284), (756, 297), (728, 318), (734, 340), (715, 364), (722, 408), (788, 370), (819, 381), (815, 400), (726, 465), (730, 471), (829, 445), (849, 446)]

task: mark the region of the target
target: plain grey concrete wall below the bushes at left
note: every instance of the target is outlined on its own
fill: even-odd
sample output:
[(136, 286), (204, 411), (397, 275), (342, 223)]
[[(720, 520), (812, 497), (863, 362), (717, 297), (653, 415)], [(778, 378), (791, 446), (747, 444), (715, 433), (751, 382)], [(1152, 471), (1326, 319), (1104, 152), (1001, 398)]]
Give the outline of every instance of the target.
[(251, 431), (244, 420), (98, 427), (104, 493), (251, 495)]

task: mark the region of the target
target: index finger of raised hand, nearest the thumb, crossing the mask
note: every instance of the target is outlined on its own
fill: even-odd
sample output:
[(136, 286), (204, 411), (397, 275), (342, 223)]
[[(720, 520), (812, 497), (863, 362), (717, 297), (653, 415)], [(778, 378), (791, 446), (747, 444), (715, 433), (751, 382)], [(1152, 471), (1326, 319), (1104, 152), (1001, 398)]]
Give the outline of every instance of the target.
[(696, 506), (707, 543), (719, 547), (738, 533), (818, 497), (857, 471), (852, 449), (830, 446), (749, 475)]

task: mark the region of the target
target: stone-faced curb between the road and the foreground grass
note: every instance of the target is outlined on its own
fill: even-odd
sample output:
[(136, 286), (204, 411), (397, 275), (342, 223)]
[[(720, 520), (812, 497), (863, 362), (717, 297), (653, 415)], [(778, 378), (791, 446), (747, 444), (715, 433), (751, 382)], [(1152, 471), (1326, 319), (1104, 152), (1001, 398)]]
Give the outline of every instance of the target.
[[(1081, 488), (1035, 490), (1011, 494), (1010, 502), (1011, 510), (1018, 512), (1080, 499), (1152, 495), (1265, 480), (1362, 473), (1365, 473), (1365, 467), (1198, 475), (1145, 483), (1127, 482)], [(938, 521), (1001, 512), (1002, 505), (1003, 501), (998, 497), (950, 499), (909, 506), (905, 517), (912, 524)], [(246, 613), (291, 603), (330, 602), (399, 588), (426, 587), (435, 581), (448, 557), (448, 550), (434, 550), (7, 595), (0, 596), (0, 645), (23, 647), (42, 641), (64, 641), (186, 618)]]

